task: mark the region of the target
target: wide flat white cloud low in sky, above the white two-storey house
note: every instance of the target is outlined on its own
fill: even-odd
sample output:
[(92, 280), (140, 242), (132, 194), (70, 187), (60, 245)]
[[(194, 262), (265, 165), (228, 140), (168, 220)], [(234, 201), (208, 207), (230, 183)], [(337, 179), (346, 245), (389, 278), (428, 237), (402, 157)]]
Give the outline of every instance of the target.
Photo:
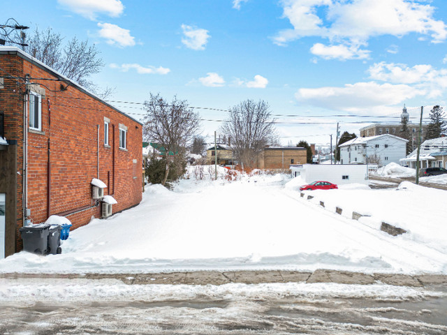
[(367, 112), (371, 108), (401, 104), (426, 91), (405, 84), (358, 82), (344, 87), (299, 89), (295, 98), (303, 104), (346, 112)]

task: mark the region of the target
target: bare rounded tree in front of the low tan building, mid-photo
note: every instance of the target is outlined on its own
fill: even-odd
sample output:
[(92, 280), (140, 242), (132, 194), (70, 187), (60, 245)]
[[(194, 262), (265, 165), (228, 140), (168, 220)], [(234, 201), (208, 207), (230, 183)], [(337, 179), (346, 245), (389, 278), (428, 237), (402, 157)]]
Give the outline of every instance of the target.
[(271, 117), (265, 101), (242, 101), (230, 109), (230, 116), (221, 132), (230, 137), (231, 147), (242, 165), (255, 167), (264, 147), (277, 140)]

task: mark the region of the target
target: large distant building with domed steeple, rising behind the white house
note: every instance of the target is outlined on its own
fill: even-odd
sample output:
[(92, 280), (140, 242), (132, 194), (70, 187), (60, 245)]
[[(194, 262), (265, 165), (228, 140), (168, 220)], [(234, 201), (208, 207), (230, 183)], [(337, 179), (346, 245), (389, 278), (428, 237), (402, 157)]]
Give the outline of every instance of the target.
[[(407, 121), (407, 127), (409, 128), (410, 134), (411, 134), (411, 149), (416, 149), (416, 145), (418, 143), (418, 136), (419, 136), (419, 124), (413, 124), (413, 122), (409, 121), (409, 113), (406, 111), (406, 107), (402, 110), (402, 114), (400, 114), (400, 119), (402, 122), (402, 119), (406, 119)], [(427, 134), (427, 123), (422, 124), (422, 137), (424, 137)], [(402, 133), (400, 131), (402, 130), (401, 124), (370, 124), (369, 126), (360, 128), (360, 137), (372, 137), (377, 135), (394, 135), (397, 137), (401, 137)]]

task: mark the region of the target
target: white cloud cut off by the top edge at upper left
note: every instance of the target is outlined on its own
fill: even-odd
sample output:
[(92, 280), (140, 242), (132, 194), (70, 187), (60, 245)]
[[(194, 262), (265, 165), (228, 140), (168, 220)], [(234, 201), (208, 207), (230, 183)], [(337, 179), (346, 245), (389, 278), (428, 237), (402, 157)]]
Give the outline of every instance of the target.
[(98, 13), (117, 17), (123, 13), (124, 6), (120, 0), (57, 0), (74, 13), (95, 20)]

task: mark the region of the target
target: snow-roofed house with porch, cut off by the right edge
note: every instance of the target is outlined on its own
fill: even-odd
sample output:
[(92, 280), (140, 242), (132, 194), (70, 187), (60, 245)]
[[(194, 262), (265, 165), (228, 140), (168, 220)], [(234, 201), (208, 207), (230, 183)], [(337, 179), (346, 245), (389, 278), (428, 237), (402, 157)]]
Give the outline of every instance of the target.
[[(416, 169), (417, 149), (405, 158), (400, 159), (402, 165)], [(426, 140), (420, 144), (420, 168), (446, 168), (447, 169), (447, 137)]]

